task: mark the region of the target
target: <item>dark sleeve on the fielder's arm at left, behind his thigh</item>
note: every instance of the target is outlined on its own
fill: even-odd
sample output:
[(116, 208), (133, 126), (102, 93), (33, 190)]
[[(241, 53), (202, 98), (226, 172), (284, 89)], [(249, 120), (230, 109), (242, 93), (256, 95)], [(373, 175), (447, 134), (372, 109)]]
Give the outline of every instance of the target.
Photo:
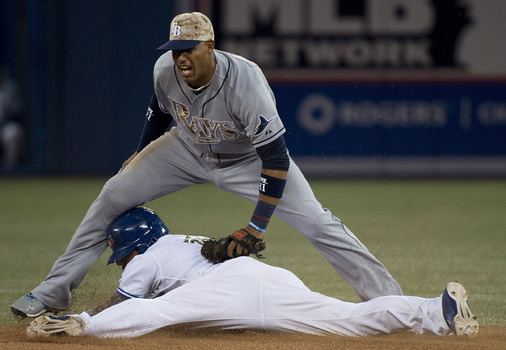
[(153, 93), (151, 98), (148, 113), (144, 123), (143, 134), (141, 135), (141, 141), (138, 144), (137, 152), (141, 152), (145, 146), (164, 134), (167, 127), (172, 121), (172, 116), (163, 112), (158, 105), (158, 98), (156, 93)]

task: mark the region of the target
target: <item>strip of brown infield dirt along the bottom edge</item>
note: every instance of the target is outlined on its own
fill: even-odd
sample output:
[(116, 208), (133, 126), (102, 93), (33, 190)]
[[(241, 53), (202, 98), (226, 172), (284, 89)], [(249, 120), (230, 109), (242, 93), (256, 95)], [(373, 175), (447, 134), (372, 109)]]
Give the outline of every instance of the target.
[(47, 337), (29, 339), (25, 327), (0, 328), (0, 349), (506, 349), (506, 329), (486, 328), (474, 338), (435, 337), (406, 332), (368, 338), (281, 335), (254, 331), (158, 330), (132, 339)]

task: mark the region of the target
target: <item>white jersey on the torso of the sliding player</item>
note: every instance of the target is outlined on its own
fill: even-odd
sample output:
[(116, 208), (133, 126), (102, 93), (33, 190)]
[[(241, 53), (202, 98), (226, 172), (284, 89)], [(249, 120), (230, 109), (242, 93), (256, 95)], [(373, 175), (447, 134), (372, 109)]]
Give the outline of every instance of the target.
[(200, 254), (203, 240), (189, 235), (164, 235), (126, 265), (117, 292), (128, 298), (152, 299), (212, 271)]

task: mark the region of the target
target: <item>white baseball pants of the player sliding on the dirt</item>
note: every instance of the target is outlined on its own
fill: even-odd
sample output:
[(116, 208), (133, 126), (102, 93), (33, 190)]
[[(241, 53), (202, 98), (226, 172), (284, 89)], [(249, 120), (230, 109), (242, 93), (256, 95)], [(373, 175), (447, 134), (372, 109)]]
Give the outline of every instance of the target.
[(389, 296), (353, 304), (311, 292), (293, 273), (249, 257), (155, 299), (129, 299), (90, 317), (84, 335), (137, 337), (165, 326), (253, 329), (361, 337), (416, 330), (451, 331), (441, 298)]

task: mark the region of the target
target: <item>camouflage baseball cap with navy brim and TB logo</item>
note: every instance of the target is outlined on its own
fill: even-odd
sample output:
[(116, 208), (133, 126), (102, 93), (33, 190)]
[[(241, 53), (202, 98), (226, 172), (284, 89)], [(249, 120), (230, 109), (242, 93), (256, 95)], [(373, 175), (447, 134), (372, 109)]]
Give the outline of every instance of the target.
[(201, 41), (214, 40), (211, 20), (200, 12), (176, 15), (170, 29), (170, 41), (157, 48), (158, 51), (188, 50)]

